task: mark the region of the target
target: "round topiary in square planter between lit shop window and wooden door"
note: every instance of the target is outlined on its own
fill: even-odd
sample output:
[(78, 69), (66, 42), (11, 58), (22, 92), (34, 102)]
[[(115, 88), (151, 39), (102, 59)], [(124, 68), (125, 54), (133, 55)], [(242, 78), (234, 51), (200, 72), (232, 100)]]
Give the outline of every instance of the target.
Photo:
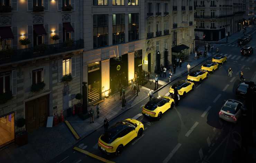
[(28, 143), (28, 133), (25, 128), (22, 130), (22, 127), (26, 124), (26, 119), (20, 118), (17, 120), (16, 125), (20, 128), (20, 131), (16, 134), (15, 143), (19, 146), (25, 145)]

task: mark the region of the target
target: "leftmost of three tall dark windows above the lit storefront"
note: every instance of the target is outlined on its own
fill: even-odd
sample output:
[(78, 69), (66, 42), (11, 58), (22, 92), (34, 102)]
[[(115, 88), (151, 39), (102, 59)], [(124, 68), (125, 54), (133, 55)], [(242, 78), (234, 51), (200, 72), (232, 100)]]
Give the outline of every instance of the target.
[(108, 14), (93, 15), (93, 48), (108, 46)]

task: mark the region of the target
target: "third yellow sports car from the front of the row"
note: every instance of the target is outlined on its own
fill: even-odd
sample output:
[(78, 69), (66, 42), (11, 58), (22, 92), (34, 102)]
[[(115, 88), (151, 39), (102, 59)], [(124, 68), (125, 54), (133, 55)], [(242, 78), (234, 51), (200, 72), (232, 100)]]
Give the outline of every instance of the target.
[(174, 88), (177, 87), (179, 95), (182, 95), (183, 97), (186, 96), (186, 93), (188, 93), (191, 90), (194, 90), (195, 84), (191, 81), (177, 81), (174, 85), (170, 87), (169, 93), (174, 94)]

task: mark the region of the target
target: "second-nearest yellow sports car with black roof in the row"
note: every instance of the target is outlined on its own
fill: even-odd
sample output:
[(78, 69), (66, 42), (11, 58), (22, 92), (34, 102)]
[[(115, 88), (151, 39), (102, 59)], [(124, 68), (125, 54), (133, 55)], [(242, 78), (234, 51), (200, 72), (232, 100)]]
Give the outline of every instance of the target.
[(174, 106), (174, 99), (167, 96), (153, 98), (142, 108), (142, 114), (147, 117), (161, 119), (162, 114)]

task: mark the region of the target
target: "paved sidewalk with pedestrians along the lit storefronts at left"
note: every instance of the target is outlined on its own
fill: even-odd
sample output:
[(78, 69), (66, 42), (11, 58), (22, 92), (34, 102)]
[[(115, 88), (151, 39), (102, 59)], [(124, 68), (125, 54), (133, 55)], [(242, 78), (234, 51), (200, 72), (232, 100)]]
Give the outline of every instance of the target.
[[(193, 54), (190, 55), (190, 59), (182, 64), (182, 67), (176, 68), (176, 74), (172, 76), (172, 81), (178, 78), (180, 75), (187, 72), (187, 64), (190, 63), (191, 69), (203, 61), (210, 58), (214, 53), (208, 53), (207, 58), (200, 58), (197, 60), (193, 59)], [(153, 77), (155, 74), (152, 74)], [(168, 74), (167, 74), (168, 76)], [(151, 78), (152, 79), (152, 78)], [(154, 82), (154, 81), (153, 81)], [(148, 82), (149, 83), (149, 82)], [(159, 84), (163, 84), (158, 90), (163, 88), (169, 83), (168, 77), (160, 78)], [(154, 84), (154, 83), (152, 83)], [(131, 94), (131, 88), (127, 87), (126, 90), (126, 100), (127, 104), (125, 108), (121, 108), (121, 100), (119, 100), (119, 93), (110, 96), (102, 103), (100, 103), (100, 118), (96, 118), (96, 107), (89, 106), (88, 110), (94, 109), (95, 119), (94, 123), (90, 123), (89, 119), (81, 120), (77, 116), (67, 117), (66, 120), (70, 122), (72, 127), (79, 134), (81, 139), (85, 138), (87, 135), (91, 134), (95, 130), (103, 126), (103, 120), (107, 117), (109, 120), (114, 119), (120, 114), (135, 106), (140, 101), (148, 98), (149, 89), (146, 87), (141, 87), (139, 96), (134, 96)], [(154, 91), (157, 92), (158, 90)], [(116, 101), (115, 101), (116, 100)], [(64, 123), (59, 123), (53, 128), (41, 127), (28, 136), (28, 144), (18, 147), (16, 144), (12, 144), (7, 148), (0, 151), (0, 162), (13, 162), (13, 163), (43, 163), (53, 159), (58, 154), (64, 152), (72, 145), (79, 142), (76, 140), (71, 132), (67, 129)]]

